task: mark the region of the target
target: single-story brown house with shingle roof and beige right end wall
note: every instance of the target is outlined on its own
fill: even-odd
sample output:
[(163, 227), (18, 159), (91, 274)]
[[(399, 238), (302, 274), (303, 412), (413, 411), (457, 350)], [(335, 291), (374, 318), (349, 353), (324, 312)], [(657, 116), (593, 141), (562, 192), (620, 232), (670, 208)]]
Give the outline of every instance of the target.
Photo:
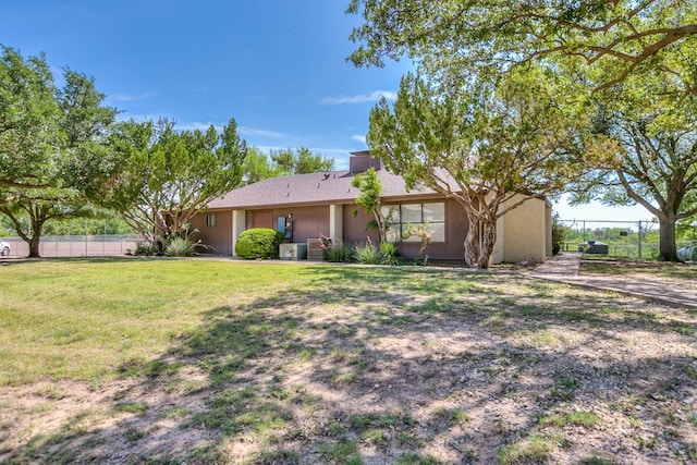
[[(400, 255), (414, 258), (420, 245), (418, 237), (404, 238), (400, 231), (409, 223), (428, 223), (429, 258), (462, 260), (467, 231), (463, 207), (431, 189), (407, 192), (404, 180), (381, 169), (380, 160), (368, 151), (353, 152), (348, 170), (273, 178), (232, 191), (212, 200), (192, 227), (198, 229), (204, 244), (229, 256), (234, 255), (240, 233), (250, 228), (284, 231), (290, 243), (327, 236), (334, 244), (353, 244), (369, 236), (377, 244), (377, 231), (367, 228), (372, 217), (356, 205), (359, 191), (351, 185), (355, 174), (370, 167), (378, 170), (384, 188), (382, 205), (392, 211), (389, 234)], [(541, 262), (551, 255), (551, 207), (546, 200), (533, 198), (505, 213), (497, 231), (493, 264)]]

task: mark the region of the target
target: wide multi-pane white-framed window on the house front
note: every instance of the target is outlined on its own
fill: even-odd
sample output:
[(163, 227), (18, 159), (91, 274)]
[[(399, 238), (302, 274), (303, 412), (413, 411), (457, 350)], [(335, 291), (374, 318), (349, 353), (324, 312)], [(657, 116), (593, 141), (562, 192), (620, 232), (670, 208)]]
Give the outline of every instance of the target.
[(388, 223), (388, 241), (420, 242), (417, 236), (405, 237), (409, 228), (428, 225), (432, 242), (445, 242), (445, 204), (405, 204), (382, 207), (382, 215)]

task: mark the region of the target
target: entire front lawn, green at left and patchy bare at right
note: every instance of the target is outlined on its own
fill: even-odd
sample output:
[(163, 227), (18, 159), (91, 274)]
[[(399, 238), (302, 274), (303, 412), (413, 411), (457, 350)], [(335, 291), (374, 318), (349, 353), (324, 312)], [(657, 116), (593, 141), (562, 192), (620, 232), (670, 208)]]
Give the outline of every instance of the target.
[(0, 267), (0, 462), (687, 464), (697, 314), (514, 272)]

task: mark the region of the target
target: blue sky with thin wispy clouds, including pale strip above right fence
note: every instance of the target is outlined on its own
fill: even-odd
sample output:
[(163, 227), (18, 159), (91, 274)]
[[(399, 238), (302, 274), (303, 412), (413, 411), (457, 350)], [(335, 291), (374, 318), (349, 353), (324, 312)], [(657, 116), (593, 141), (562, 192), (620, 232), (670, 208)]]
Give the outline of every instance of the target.
[[(248, 145), (308, 147), (342, 169), (366, 148), (370, 108), (394, 98), (409, 69), (346, 62), (360, 22), (347, 3), (0, 0), (0, 44), (45, 52), (57, 76), (64, 66), (94, 76), (121, 119), (168, 117), (194, 129), (234, 118)], [(650, 218), (641, 208), (554, 207), (568, 219)]]

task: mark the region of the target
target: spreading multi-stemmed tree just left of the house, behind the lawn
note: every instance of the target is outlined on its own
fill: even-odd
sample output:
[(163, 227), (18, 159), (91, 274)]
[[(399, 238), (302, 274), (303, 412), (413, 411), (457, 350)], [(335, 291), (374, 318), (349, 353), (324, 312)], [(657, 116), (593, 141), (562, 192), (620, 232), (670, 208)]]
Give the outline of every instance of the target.
[[(185, 232), (208, 203), (240, 184), (246, 143), (230, 120), (221, 133), (211, 125), (176, 132), (174, 123), (123, 122), (109, 150), (93, 154), (81, 173), (85, 194), (119, 211), (146, 241), (163, 244)], [(101, 167), (101, 172), (95, 175)]]

